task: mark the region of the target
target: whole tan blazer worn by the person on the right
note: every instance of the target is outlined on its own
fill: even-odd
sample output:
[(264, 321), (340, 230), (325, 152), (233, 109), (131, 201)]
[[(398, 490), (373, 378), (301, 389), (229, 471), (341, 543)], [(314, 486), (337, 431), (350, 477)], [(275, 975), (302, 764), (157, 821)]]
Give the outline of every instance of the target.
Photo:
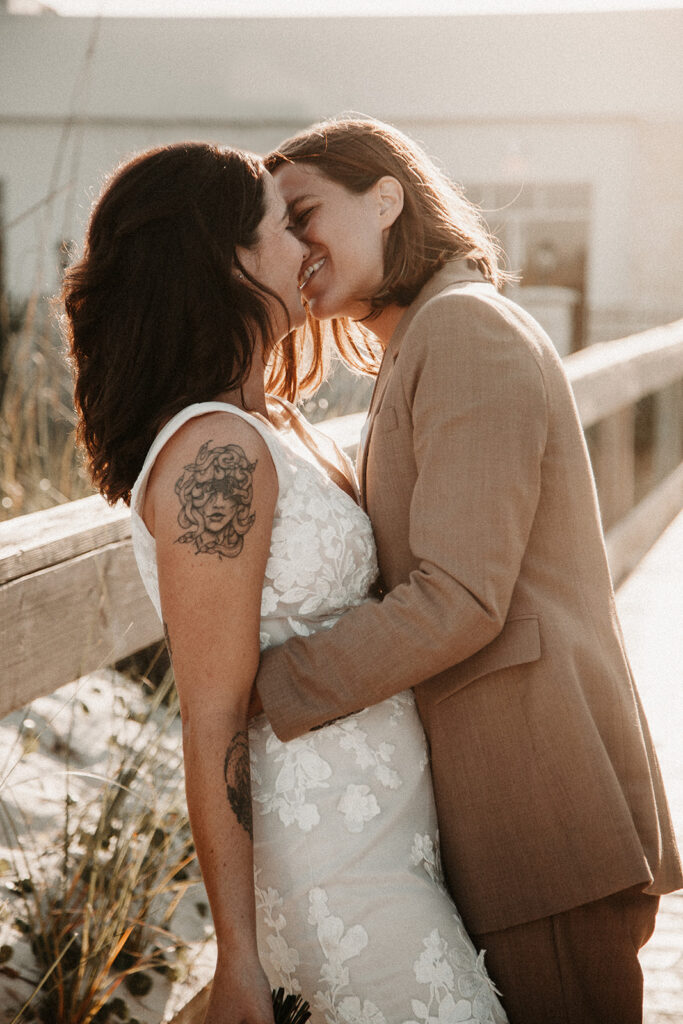
[(570, 387), (539, 325), (466, 263), (391, 338), (358, 469), (388, 592), (264, 655), (278, 735), (416, 687), (475, 934), (681, 886)]

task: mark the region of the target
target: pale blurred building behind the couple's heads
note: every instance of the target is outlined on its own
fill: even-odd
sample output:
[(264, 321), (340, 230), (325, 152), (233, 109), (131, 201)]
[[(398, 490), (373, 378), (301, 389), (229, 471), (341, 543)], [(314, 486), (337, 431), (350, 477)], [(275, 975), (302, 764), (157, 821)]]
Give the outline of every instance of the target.
[(1, 250), (53, 290), (103, 175), (183, 138), (264, 152), (359, 111), (486, 211), (568, 352), (683, 313), (683, 10), (392, 18), (0, 13)]

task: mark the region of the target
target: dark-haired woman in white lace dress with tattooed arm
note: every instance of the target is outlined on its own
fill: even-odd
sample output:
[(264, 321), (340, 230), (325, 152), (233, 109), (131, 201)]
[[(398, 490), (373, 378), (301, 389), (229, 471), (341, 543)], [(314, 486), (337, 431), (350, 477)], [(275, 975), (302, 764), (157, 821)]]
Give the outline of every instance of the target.
[[(191, 174), (187, 212), (174, 200), (187, 197)], [(225, 230), (215, 225), (230, 181), (253, 222), (228, 210), (224, 287), (239, 315), (212, 337), (193, 317), (202, 319), (200, 299), (221, 310), (207, 283), (215, 265), (207, 257), (181, 272), (182, 259), (166, 257), (191, 253), (193, 232), (206, 243)], [(94, 271), (119, 238), (122, 262), (118, 274), (109, 265), (102, 298)], [(65, 286), (91, 472), (110, 500), (130, 501), (135, 556), (172, 650), (218, 942), (206, 1021), (268, 1024), (269, 989), (282, 985), (309, 1001), (313, 1024), (502, 1024), (483, 953), (443, 885), (412, 693), (287, 743), (263, 715), (247, 724), (259, 649), (329, 628), (373, 599), (377, 577), (349, 464), (290, 402), (265, 396), (262, 338), (301, 323), (305, 256), (257, 161), (167, 147), (114, 177)], [(128, 315), (160, 287), (175, 315)], [(216, 366), (213, 389), (191, 382), (202, 358), (205, 376)]]

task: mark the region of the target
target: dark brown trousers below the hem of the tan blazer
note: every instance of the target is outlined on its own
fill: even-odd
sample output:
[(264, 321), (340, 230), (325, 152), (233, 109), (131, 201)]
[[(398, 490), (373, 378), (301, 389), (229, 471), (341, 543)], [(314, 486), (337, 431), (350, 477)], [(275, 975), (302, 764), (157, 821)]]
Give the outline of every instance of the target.
[(640, 887), (502, 932), (473, 935), (510, 1024), (642, 1024), (638, 950), (658, 896)]

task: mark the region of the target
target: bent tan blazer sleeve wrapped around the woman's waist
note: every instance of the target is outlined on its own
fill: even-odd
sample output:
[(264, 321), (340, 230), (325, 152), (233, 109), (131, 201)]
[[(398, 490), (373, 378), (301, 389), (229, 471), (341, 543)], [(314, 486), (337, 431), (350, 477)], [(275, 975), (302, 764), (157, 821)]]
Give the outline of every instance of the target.
[(507, 616), (548, 428), (533, 339), (495, 303), (439, 296), (415, 317), (392, 372), (412, 411), (418, 567), (383, 601), (263, 653), (256, 685), (283, 740), (457, 665)]

